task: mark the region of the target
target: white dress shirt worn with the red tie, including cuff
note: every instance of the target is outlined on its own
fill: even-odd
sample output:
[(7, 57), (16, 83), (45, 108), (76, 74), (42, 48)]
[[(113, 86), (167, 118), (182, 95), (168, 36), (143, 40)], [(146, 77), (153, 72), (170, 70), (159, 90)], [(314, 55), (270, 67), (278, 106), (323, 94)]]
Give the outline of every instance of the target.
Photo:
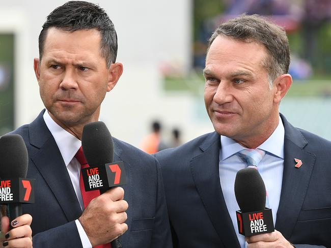
[[(79, 176), (80, 176), (80, 164), (75, 158), (75, 154), (81, 146), (81, 141), (75, 136), (60, 127), (49, 115), (46, 110), (44, 115), (44, 121), (50, 133), (54, 137), (59, 150), (61, 152), (63, 161), (67, 167), (68, 174), (71, 179), (71, 183), (75, 190), (79, 205), (82, 210), (84, 210), (84, 203), (82, 201), (80, 187), (79, 187)], [(92, 244), (86, 235), (84, 229), (82, 228), (80, 222), (75, 220), (80, 240), (83, 248), (92, 248)]]

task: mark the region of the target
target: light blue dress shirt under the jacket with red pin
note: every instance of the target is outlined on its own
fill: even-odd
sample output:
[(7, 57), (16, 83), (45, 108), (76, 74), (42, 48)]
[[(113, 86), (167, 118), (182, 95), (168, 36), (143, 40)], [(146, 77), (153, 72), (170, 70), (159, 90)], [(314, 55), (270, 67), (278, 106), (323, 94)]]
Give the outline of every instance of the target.
[[(276, 214), (281, 197), (283, 167), (284, 167), (284, 135), (285, 130), (281, 117), (279, 125), (271, 136), (259, 147), (266, 151), (258, 168), (268, 192), (269, 207), (272, 210), (273, 225), (276, 222)], [(234, 181), (239, 170), (246, 168), (246, 164), (236, 154), (243, 147), (233, 139), (225, 136), (220, 137), (221, 149), (219, 151), (219, 180), (222, 187), (224, 199), (231, 216), (240, 246), (246, 247), (244, 236), (238, 232), (236, 210), (239, 210), (234, 194)]]

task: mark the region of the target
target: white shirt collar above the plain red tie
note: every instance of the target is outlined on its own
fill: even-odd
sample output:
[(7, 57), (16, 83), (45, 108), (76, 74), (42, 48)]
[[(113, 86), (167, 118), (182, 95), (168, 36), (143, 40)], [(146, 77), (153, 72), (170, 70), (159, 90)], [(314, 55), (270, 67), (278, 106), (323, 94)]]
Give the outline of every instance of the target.
[(78, 151), (79, 147), (81, 146), (81, 141), (60, 127), (50, 117), (47, 110), (45, 111), (43, 117), (47, 128), (49, 129), (59, 147), (65, 165), (68, 166)]

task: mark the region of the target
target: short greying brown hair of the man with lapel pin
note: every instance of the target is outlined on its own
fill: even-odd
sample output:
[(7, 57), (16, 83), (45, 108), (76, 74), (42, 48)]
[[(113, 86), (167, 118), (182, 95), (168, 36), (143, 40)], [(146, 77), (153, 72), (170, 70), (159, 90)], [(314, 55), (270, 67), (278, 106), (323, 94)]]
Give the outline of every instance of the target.
[(209, 39), (208, 50), (218, 35), (244, 42), (257, 42), (264, 46), (268, 56), (263, 59), (262, 65), (268, 73), (270, 87), (274, 79), (288, 73), (290, 48), (285, 30), (266, 18), (242, 14), (220, 24)]

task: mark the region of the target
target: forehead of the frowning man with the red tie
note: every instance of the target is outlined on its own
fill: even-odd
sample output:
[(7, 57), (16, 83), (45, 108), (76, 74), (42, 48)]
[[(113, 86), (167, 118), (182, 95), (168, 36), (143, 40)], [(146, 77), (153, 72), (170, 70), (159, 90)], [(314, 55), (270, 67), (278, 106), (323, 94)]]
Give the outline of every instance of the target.
[(44, 41), (44, 55), (65, 52), (67, 55), (100, 56), (100, 32), (97, 29), (82, 29), (69, 32), (51, 27)]

